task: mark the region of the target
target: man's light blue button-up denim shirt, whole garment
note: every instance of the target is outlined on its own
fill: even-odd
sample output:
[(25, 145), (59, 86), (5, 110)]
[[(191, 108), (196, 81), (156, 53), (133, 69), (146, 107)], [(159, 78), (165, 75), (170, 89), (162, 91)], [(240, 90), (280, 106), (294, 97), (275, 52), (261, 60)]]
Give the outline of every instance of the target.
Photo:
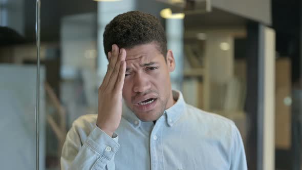
[(108, 136), (96, 125), (97, 115), (74, 121), (61, 156), (64, 169), (247, 169), (241, 135), (222, 116), (177, 102), (157, 120), (140, 121), (124, 109), (119, 128)]

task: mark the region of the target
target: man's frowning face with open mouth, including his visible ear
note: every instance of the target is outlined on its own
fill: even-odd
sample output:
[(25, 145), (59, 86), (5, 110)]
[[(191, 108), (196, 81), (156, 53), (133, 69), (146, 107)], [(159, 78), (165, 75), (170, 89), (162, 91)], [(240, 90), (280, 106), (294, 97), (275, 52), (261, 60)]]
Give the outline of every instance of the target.
[(169, 72), (175, 69), (171, 50), (164, 56), (150, 43), (126, 49), (123, 98), (142, 121), (157, 120), (174, 104)]

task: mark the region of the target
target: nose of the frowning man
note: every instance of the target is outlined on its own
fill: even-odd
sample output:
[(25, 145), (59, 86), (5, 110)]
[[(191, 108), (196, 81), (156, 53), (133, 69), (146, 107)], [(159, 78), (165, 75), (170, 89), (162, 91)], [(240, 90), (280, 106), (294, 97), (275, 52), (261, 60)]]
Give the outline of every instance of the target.
[(137, 73), (134, 77), (133, 92), (144, 93), (151, 88), (149, 77), (143, 73)]

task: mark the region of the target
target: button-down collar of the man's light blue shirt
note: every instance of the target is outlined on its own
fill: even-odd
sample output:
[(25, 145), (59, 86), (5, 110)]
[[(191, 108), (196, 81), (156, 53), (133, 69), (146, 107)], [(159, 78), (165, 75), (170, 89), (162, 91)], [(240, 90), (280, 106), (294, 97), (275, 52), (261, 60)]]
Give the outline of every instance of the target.
[[(166, 116), (166, 122), (170, 127), (177, 122), (185, 110), (185, 101), (182, 93), (177, 90), (172, 90), (172, 96), (174, 100), (176, 100), (176, 103), (174, 103), (172, 107), (166, 109), (163, 114), (163, 116)], [(129, 121), (134, 128), (139, 128), (139, 126), (143, 123), (128, 107), (126, 107), (124, 102), (122, 116)]]

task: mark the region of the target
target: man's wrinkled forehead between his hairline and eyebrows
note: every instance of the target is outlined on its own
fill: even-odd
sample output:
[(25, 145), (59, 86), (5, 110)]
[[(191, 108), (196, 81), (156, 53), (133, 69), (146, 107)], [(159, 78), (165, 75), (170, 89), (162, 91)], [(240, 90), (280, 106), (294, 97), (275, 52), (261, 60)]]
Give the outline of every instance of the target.
[(147, 62), (162, 57), (161, 52), (154, 43), (138, 45), (131, 49), (126, 49), (126, 62)]

